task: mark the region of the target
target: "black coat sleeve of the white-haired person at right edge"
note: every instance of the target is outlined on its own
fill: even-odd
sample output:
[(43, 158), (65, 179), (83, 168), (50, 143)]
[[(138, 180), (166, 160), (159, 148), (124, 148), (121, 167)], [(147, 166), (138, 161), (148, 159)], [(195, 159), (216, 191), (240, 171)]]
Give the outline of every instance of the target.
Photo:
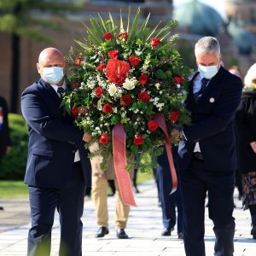
[(239, 108), (236, 112), (236, 129), (238, 133), (238, 137), (241, 139), (243, 143), (249, 144), (253, 143), (255, 140), (253, 137), (253, 131), (249, 127), (246, 119), (246, 99), (242, 99), (239, 105)]

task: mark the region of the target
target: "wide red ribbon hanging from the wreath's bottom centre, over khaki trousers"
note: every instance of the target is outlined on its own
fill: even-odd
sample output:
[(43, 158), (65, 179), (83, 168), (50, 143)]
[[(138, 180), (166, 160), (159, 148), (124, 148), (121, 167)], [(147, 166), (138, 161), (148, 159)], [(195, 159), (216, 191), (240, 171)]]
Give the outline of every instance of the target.
[(119, 184), (119, 192), (126, 206), (137, 207), (131, 190), (131, 178), (126, 170), (126, 148), (124, 125), (116, 124), (112, 131), (113, 166)]

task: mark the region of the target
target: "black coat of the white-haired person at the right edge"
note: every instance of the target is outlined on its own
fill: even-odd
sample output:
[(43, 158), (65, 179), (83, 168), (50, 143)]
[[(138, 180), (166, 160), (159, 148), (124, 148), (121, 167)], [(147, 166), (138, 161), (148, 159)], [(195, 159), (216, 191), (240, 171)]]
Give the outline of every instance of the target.
[(250, 143), (256, 141), (256, 90), (245, 89), (236, 112), (238, 170), (256, 172), (256, 154)]

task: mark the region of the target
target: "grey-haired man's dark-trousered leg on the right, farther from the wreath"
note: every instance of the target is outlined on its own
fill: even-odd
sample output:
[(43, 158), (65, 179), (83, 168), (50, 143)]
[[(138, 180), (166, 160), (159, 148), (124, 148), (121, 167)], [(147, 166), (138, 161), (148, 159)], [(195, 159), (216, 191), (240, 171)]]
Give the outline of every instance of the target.
[(234, 253), (235, 218), (233, 218), (235, 172), (207, 172), (209, 218), (216, 236), (215, 254), (231, 256)]

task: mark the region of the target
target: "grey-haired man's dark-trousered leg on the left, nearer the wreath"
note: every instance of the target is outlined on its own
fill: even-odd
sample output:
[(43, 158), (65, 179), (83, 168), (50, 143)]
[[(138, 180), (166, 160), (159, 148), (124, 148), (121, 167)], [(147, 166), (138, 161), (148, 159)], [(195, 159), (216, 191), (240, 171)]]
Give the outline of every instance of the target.
[(187, 256), (205, 256), (205, 199), (207, 187), (199, 174), (203, 164), (192, 160), (189, 168), (180, 172), (183, 200), (183, 236)]

